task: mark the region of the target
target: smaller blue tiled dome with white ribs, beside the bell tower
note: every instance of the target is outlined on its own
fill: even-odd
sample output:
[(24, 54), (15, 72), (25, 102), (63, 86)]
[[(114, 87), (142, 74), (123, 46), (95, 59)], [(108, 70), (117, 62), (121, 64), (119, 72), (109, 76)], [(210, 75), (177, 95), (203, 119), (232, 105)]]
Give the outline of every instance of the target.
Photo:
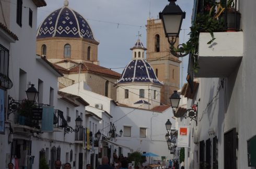
[(124, 83), (153, 83), (163, 85), (157, 79), (150, 64), (143, 59), (132, 60), (126, 66), (117, 84)]

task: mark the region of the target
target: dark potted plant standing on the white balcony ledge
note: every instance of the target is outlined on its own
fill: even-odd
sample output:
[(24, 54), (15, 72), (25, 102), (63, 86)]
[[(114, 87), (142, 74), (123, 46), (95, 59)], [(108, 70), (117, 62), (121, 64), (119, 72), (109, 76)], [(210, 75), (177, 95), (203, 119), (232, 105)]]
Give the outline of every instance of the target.
[(234, 0), (228, 0), (226, 9), (223, 13), (225, 28), (227, 31), (239, 31), (241, 14), (236, 9)]

